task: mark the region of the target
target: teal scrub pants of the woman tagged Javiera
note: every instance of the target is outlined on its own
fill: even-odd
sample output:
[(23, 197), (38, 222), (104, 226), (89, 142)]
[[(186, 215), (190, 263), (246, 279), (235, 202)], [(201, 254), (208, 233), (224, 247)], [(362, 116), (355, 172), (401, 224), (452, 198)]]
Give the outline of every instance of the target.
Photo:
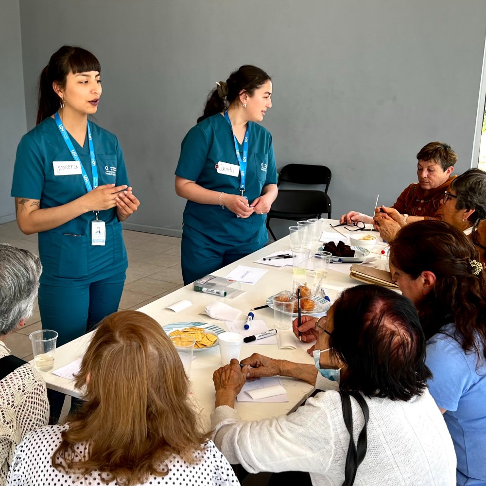
[(92, 330), (107, 315), (117, 312), (125, 271), (96, 282), (57, 287), (41, 284), (39, 310), (43, 329), (59, 333), (57, 347)]

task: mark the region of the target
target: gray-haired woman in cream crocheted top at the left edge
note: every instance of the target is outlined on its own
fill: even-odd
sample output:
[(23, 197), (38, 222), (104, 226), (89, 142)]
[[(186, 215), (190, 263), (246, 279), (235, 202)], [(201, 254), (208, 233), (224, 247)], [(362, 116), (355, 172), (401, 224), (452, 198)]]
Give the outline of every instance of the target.
[(41, 270), (39, 257), (0, 244), (0, 486), (17, 444), (49, 420), (44, 380), (32, 365), (11, 356), (3, 343), (32, 314)]

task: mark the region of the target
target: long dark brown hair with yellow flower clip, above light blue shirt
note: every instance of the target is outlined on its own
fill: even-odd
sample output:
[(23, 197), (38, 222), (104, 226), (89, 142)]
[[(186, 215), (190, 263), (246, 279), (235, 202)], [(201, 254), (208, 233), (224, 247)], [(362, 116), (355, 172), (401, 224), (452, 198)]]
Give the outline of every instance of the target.
[(486, 277), (474, 275), (472, 260), (479, 260), (474, 245), (456, 227), (443, 221), (418, 221), (400, 229), (390, 244), (390, 263), (410, 278), (425, 270), (435, 284), (417, 304), (428, 338), (454, 323), (453, 337), (464, 349), (474, 351), (478, 366), (486, 358)]

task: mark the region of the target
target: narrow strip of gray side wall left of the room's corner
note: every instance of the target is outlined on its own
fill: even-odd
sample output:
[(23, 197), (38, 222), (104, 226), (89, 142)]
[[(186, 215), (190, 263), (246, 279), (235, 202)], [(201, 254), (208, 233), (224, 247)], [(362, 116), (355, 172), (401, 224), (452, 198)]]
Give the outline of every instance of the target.
[(13, 161), (20, 137), (26, 131), (20, 12), (18, 1), (2, 1), (0, 7), (0, 224), (15, 219), (10, 186)]

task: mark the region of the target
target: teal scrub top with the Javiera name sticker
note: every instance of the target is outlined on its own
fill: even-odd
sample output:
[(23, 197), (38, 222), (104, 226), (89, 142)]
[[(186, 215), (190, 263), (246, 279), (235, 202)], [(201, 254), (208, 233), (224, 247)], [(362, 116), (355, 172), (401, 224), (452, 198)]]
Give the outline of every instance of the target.
[[(96, 155), (98, 184), (129, 185), (120, 143), (115, 135), (89, 122)], [(70, 137), (90, 182), (93, 182), (87, 138), (81, 147)], [(86, 194), (81, 174), (56, 175), (53, 161), (72, 162), (73, 158), (56, 122), (39, 123), (24, 135), (17, 147), (12, 197), (40, 200), (40, 208), (53, 208)], [(124, 271), (128, 261), (116, 208), (100, 211), (106, 224), (106, 244), (91, 246), (92, 211), (38, 234), (43, 266), (41, 283), (72, 286), (97, 281)]]

